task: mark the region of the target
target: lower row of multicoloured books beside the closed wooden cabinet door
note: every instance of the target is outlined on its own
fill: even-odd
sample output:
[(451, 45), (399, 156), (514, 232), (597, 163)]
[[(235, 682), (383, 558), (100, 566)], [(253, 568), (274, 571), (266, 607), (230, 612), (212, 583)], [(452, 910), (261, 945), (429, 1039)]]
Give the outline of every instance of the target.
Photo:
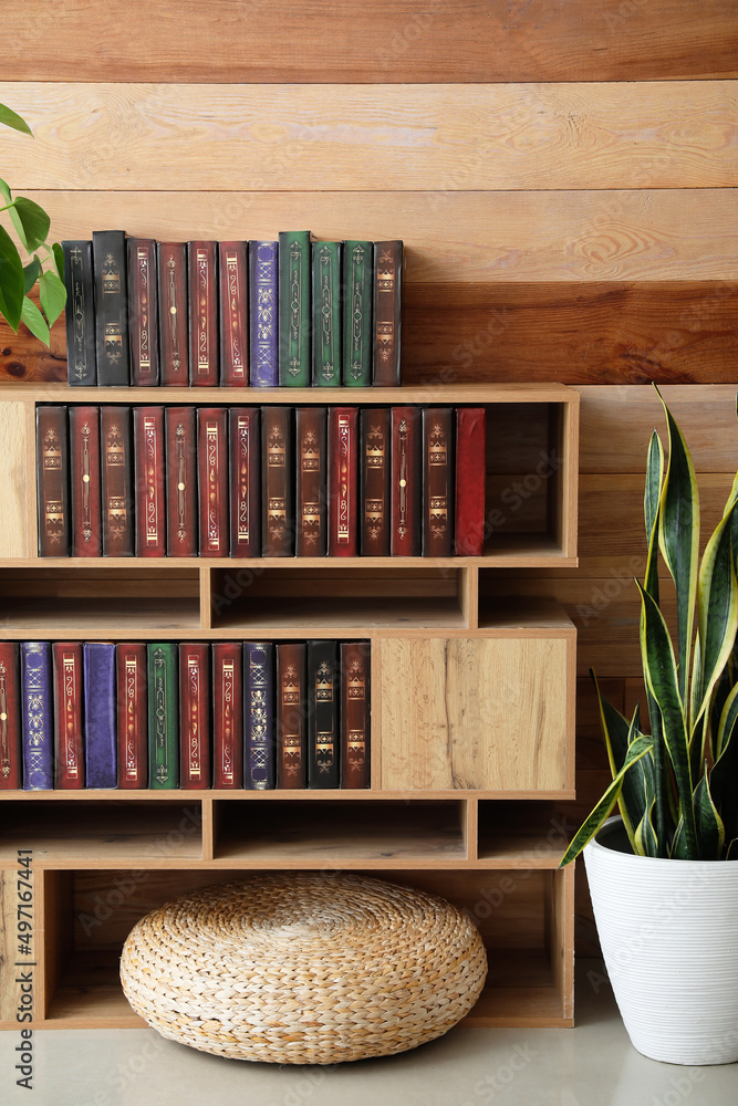
[(366, 641), (0, 641), (0, 787), (367, 787)]

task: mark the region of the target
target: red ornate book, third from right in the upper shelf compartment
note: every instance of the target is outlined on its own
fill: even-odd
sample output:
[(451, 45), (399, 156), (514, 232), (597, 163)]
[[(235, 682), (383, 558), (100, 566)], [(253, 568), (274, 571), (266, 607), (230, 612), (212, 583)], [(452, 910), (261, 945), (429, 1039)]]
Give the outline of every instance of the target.
[(422, 546), (420, 410), (392, 408), (391, 552), (393, 556), (419, 556)]

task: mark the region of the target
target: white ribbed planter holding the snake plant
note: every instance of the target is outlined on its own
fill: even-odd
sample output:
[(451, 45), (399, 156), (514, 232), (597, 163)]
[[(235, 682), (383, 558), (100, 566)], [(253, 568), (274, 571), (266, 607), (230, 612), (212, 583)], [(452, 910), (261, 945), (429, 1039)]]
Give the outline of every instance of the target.
[(738, 863), (634, 856), (620, 818), (584, 863), (633, 1045), (671, 1064), (738, 1061)]

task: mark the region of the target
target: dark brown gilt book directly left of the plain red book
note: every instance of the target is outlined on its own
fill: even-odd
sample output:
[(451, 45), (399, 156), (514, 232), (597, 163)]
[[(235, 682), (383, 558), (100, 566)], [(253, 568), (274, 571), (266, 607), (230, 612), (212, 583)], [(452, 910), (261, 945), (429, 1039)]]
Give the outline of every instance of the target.
[(423, 556), (450, 556), (454, 441), (450, 407), (423, 410)]

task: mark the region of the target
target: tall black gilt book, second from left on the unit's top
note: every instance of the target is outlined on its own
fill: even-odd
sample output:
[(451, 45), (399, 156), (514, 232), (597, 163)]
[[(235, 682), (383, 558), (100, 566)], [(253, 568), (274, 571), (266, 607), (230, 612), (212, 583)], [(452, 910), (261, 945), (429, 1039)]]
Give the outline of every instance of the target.
[(97, 384), (102, 387), (125, 388), (131, 384), (131, 355), (124, 231), (93, 231), (92, 268), (95, 282)]

